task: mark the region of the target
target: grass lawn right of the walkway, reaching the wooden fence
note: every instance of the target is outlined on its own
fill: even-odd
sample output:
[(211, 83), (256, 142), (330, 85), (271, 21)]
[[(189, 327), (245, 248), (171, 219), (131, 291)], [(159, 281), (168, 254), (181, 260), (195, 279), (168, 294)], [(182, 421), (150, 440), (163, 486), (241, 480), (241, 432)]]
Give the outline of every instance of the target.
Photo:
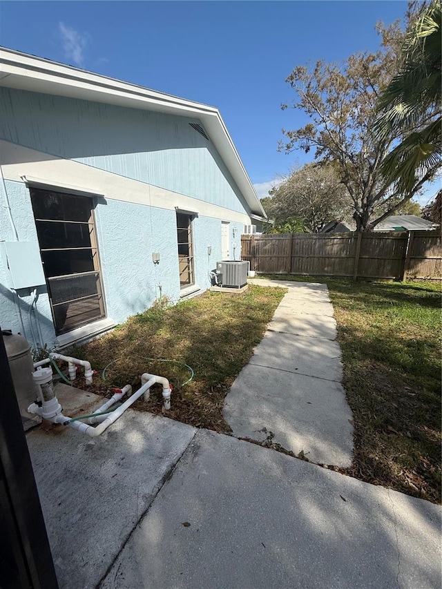
[(358, 479), (441, 501), (441, 285), (262, 275), (328, 285), (354, 414)]

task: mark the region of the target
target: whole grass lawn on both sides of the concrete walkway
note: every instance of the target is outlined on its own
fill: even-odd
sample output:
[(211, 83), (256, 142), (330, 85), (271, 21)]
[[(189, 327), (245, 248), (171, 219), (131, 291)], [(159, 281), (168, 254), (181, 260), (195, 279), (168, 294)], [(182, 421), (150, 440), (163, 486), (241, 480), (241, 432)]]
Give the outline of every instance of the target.
[[(262, 278), (325, 282), (329, 287), (343, 350), (343, 385), (354, 414), (354, 463), (340, 472), (440, 502), (440, 286)], [(93, 387), (85, 388), (108, 394), (113, 385), (138, 387), (142, 372), (160, 374), (175, 387), (169, 416), (229, 432), (222, 417), (224, 396), (284, 293), (250, 286), (241, 294), (206, 292), (175, 307), (156, 305), (73, 350), (100, 372), (108, 366), (104, 380), (95, 378)], [(183, 386), (190, 374), (185, 364), (195, 376)], [(161, 412), (161, 387), (153, 387), (151, 400), (137, 401), (135, 407)]]

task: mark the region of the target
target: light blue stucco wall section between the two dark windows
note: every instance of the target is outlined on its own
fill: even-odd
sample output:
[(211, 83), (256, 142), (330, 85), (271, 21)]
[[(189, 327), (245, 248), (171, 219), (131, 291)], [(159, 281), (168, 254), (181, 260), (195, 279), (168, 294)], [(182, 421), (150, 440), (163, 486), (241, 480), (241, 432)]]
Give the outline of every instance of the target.
[[(173, 211), (98, 199), (95, 224), (108, 316), (116, 322), (150, 307), (162, 293), (177, 300), (176, 220)], [(153, 264), (152, 253), (160, 253)]]

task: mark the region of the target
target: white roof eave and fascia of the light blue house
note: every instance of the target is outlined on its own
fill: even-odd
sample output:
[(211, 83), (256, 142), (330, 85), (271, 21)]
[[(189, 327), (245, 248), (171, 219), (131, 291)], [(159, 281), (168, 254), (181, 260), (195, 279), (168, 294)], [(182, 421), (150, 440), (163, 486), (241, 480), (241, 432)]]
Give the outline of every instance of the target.
[(251, 213), (267, 219), (220, 111), (214, 106), (1, 47), (0, 86), (198, 118), (244, 195)]

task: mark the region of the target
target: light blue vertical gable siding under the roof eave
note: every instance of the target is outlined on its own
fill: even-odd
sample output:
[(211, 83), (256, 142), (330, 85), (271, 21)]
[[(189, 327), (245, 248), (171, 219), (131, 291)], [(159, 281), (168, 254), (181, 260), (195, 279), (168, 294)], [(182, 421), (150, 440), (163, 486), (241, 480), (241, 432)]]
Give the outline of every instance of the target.
[(247, 214), (220, 155), (191, 122), (198, 119), (0, 88), (6, 141)]

